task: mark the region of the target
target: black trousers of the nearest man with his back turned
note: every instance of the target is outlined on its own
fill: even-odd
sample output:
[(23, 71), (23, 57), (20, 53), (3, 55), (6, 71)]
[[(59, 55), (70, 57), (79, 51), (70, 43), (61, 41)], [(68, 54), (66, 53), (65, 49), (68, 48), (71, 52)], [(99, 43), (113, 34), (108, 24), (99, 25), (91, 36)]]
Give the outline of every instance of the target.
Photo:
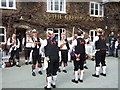
[(47, 77), (57, 75), (57, 71), (59, 68), (59, 60), (58, 59), (50, 59), (48, 61), (48, 68), (47, 68)]

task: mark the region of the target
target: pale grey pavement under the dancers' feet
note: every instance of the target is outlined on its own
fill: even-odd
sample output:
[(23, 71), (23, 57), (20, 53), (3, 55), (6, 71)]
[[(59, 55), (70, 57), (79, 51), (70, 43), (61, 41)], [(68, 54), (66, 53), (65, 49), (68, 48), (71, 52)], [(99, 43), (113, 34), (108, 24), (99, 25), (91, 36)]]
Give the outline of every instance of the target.
[[(31, 74), (31, 65), (16, 66), (0, 69), (0, 87), (2, 88), (43, 88), (46, 85), (46, 73), (36, 76)], [(69, 62), (67, 73), (58, 73), (57, 88), (118, 88), (118, 58), (106, 57), (107, 76), (92, 77), (95, 72), (94, 61), (87, 60), (88, 69), (85, 69), (83, 83), (72, 83), (73, 63)]]

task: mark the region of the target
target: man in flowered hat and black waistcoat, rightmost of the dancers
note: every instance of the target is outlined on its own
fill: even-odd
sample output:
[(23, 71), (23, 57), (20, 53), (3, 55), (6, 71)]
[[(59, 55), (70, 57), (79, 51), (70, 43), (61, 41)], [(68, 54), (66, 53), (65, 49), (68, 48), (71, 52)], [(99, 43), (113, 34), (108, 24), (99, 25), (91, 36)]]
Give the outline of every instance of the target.
[(105, 37), (103, 36), (104, 31), (101, 28), (98, 28), (96, 30), (97, 36), (95, 37), (93, 43), (95, 45), (95, 74), (93, 74), (93, 77), (99, 77), (100, 73), (100, 63), (102, 65), (102, 73), (101, 75), (106, 76), (106, 62), (105, 62), (105, 56), (106, 56), (106, 50), (107, 50), (107, 44)]

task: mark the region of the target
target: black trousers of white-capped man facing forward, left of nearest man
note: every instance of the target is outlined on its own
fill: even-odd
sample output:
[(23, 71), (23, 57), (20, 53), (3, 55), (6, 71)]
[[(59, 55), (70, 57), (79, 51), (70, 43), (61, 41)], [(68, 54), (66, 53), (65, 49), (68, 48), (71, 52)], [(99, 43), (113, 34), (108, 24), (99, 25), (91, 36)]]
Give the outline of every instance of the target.
[(38, 61), (38, 65), (41, 65), (41, 55), (39, 54), (39, 49), (34, 49), (32, 53), (33, 65), (36, 65)]

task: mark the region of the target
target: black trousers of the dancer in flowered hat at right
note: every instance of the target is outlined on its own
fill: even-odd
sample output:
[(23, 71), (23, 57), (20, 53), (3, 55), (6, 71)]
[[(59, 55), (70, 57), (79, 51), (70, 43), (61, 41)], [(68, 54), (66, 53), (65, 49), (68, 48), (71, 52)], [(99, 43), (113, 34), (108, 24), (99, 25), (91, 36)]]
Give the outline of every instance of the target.
[(95, 63), (96, 63), (96, 67), (99, 67), (99, 66), (100, 66), (100, 63), (102, 64), (102, 66), (106, 66), (105, 56), (106, 56), (106, 51), (105, 51), (105, 50), (97, 51), (97, 52), (95, 53)]

